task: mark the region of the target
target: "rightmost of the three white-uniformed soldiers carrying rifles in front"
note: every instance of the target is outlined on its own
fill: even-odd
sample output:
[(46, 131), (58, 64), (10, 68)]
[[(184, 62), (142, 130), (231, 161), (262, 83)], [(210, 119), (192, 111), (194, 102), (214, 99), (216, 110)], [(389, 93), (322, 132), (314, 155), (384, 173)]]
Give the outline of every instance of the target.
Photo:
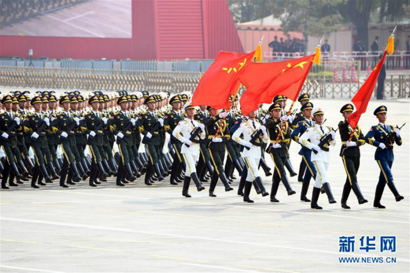
[[(329, 203), (336, 203), (326, 175), (327, 167), (329, 167), (330, 162), (329, 145), (335, 146), (336, 132), (331, 127), (322, 125), (324, 118), (323, 111), (320, 108), (313, 110), (312, 114), (316, 124), (313, 127), (306, 129), (306, 131), (299, 137), (299, 143), (306, 148), (311, 149), (313, 152), (311, 159), (315, 164), (317, 174), (313, 186), (311, 207), (322, 209), (322, 207), (317, 204), (322, 185), (327, 198), (329, 198)], [(327, 138), (327, 141), (323, 141), (325, 137)]]

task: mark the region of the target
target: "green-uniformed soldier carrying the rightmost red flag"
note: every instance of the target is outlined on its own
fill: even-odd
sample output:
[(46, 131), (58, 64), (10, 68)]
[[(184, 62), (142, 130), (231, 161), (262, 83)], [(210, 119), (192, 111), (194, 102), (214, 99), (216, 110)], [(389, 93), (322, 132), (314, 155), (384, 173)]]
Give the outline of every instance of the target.
[(342, 193), (342, 208), (350, 208), (347, 205), (347, 198), (349, 196), (350, 190), (352, 189), (355, 193), (359, 204), (367, 203), (364, 199), (359, 184), (357, 183), (357, 172), (359, 171), (360, 165), (360, 148), (359, 146), (364, 145), (365, 140), (360, 126), (357, 125), (355, 132), (353, 134), (352, 140), (349, 140), (352, 134), (353, 128), (347, 123), (347, 117), (353, 112), (353, 105), (350, 103), (345, 104), (341, 109), (340, 113), (343, 115), (343, 121), (339, 122), (339, 133), (342, 140), (342, 147), (340, 149), (340, 156), (343, 160), (344, 170), (346, 171), (347, 177), (346, 182), (343, 186)]

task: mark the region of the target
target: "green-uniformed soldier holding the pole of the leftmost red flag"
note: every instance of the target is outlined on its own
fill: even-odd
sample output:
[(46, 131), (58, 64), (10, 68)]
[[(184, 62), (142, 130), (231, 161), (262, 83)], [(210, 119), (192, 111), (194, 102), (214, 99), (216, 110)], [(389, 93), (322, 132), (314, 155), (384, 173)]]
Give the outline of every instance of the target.
[[(223, 117), (226, 117), (228, 113), (222, 112), (218, 114), (218, 111), (212, 107), (207, 107), (207, 109), (211, 114), (205, 124), (208, 134), (208, 151), (211, 156), (212, 164), (214, 165), (214, 172), (209, 186), (209, 196), (216, 197), (214, 190), (218, 182), (218, 177), (225, 186), (226, 192), (233, 190), (229, 185), (228, 178), (223, 170), (223, 160), (225, 157), (225, 145), (223, 144), (223, 141), (227, 141), (231, 136), (228, 131), (227, 123), (223, 120)], [(216, 135), (219, 125), (221, 125), (221, 128)]]

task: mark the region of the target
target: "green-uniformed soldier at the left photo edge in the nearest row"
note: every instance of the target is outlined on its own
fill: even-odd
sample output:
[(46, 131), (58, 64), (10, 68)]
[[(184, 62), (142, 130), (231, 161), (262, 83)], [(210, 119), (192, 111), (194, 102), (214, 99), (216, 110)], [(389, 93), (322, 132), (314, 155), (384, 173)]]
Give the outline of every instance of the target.
[[(6, 95), (2, 98), (2, 104), (5, 107), (5, 112), (0, 114), (0, 134), (1, 134), (1, 143), (6, 155), (7, 161), (4, 164), (4, 171), (2, 177), (2, 188), (9, 188), (7, 186), (7, 178), (9, 176), (10, 168), (14, 173), (16, 179), (20, 179), (22, 175), (18, 171), (17, 164), (14, 160), (14, 156), (19, 154), (17, 148), (17, 138), (16, 132), (17, 128), (20, 126), (20, 119), (16, 117), (11, 111), (12, 107), (12, 97)], [(18, 184), (12, 183), (10, 186), (18, 186)]]

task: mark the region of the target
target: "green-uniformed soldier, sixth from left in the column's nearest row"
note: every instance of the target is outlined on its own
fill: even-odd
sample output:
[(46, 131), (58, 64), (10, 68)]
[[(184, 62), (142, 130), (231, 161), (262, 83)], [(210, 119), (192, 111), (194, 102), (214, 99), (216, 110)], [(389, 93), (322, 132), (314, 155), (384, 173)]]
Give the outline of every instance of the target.
[(159, 146), (161, 143), (160, 130), (161, 123), (163, 125), (163, 119), (159, 118), (155, 113), (156, 98), (155, 95), (148, 96), (144, 103), (147, 105), (147, 112), (138, 117), (137, 125), (139, 132), (144, 135), (142, 143), (146, 145), (146, 149), (149, 155), (149, 161), (147, 166), (147, 173), (145, 175), (145, 183), (151, 185), (150, 178), (156, 174), (158, 181), (163, 180), (162, 173), (158, 166), (159, 160)]

